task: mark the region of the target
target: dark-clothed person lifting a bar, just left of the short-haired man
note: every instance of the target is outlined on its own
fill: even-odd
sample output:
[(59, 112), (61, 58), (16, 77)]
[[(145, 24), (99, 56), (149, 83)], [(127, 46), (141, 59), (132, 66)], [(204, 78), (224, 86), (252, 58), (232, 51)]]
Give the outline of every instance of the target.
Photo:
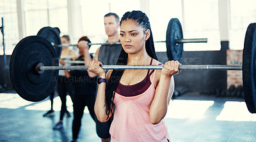
[[(90, 49), (88, 43), (91, 43), (87, 36), (83, 36), (78, 40), (84, 41), (86, 45), (77, 46), (79, 48), (80, 56), (76, 60), (84, 61), (84, 53), (87, 53)], [(93, 56), (90, 54), (90, 60)], [(72, 64), (76, 66), (84, 66), (84, 64)], [(90, 78), (87, 71), (74, 70), (70, 71), (70, 80), (72, 80), (74, 86), (74, 97), (73, 97), (73, 109), (74, 109), (74, 120), (72, 124), (72, 141), (77, 141), (79, 131), (81, 128), (81, 119), (84, 113), (84, 107), (87, 106), (91, 117), (95, 121), (94, 104), (96, 99), (97, 89), (97, 77)]]

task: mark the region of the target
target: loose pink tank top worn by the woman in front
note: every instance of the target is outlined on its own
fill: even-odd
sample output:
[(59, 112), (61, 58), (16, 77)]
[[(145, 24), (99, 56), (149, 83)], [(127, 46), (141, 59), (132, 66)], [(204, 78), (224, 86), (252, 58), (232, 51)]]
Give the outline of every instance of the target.
[(115, 113), (109, 129), (113, 142), (168, 141), (170, 139), (164, 119), (151, 124), (149, 109), (156, 89), (153, 81), (148, 89), (137, 95), (125, 97), (115, 93)]

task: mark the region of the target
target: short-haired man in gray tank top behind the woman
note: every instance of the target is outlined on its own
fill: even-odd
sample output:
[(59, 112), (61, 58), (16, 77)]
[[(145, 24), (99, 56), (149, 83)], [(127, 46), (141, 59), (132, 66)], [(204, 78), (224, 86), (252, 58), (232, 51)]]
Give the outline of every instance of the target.
[[(119, 17), (116, 15), (116, 13), (107, 13), (104, 15), (104, 27), (105, 32), (108, 36), (107, 43), (116, 43), (120, 42), (119, 39)], [(85, 41), (80, 41), (79, 46), (86, 46)], [(95, 56), (93, 57), (93, 60), (99, 60), (102, 62), (102, 64), (108, 64), (108, 65), (115, 65), (116, 61), (118, 60), (118, 56), (120, 54), (120, 51), (122, 50), (122, 45), (102, 45), (100, 46), (97, 51), (95, 52)], [(88, 50), (85, 50), (84, 52), (84, 65), (88, 66), (90, 63), (90, 53)], [(88, 75), (90, 77), (97, 76), (95, 73), (88, 72)], [(101, 123), (99, 120), (97, 120), (97, 134), (100, 138), (102, 138), (102, 141), (110, 142), (110, 134), (109, 134), (109, 128), (111, 125), (111, 122), (113, 120), (113, 117), (111, 117), (108, 122)]]

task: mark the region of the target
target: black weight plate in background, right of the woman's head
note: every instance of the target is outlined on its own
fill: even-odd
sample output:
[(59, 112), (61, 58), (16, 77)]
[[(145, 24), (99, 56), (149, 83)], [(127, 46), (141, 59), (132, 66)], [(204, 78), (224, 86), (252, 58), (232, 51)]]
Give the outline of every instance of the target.
[(172, 18), (166, 31), (166, 53), (169, 60), (181, 62), (183, 44), (176, 43), (176, 39), (183, 38), (182, 27), (178, 18)]

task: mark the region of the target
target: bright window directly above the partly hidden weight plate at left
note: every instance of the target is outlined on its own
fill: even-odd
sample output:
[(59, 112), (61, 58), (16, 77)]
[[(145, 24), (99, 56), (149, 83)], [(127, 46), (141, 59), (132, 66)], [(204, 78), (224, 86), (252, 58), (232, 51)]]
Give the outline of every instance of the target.
[(42, 27), (59, 27), (61, 32), (68, 32), (67, 1), (61, 0), (26, 0), (26, 34), (36, 35)]

